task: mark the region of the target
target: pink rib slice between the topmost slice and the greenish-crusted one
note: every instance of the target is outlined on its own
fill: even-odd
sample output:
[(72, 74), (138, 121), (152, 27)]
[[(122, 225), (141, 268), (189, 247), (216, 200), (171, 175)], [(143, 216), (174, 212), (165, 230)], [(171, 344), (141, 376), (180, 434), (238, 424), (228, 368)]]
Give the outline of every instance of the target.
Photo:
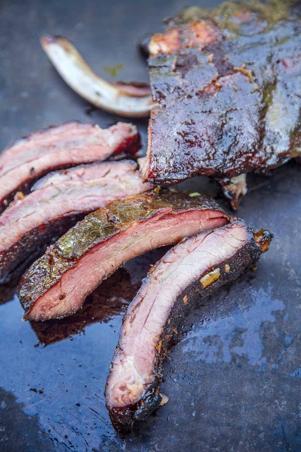
[(30, 264), (50, 240), (53, 243), (87, 213), (153, 187), (142, 181), (135, 162), (121, 160), (57, 171), (34, 188), (27, 196), (19, 195), (0, 216), (1, 282), (7, 282), (24, 259)]

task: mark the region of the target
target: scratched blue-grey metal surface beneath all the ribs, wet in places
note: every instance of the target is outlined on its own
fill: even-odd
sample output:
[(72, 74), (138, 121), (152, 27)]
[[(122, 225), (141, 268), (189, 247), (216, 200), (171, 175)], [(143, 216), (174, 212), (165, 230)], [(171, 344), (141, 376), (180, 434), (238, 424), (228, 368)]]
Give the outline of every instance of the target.
[[(124, 64), (118, 78), (147, 81), (134, 44), (186, 3), (2, 0), (0, 147), (51, 123), (120, 119), (88, 112), (47, 61), (42, 33), (70, 38), (108, 79), (104, 66)], [(147, 122), (136, 123), (145, 146)], [(250, 177), (239, 215), (274, 232), (271, 249), (256, 272), (190, 313), (166, 361), (168, 404), (126, 439), (111, 427), (103, 388), (122, 314), (164, 250), (126, 264), (62, 321), (21, 322), (18, 300), (2, 288), (0, 450), (300, 451), (300, 171), (290, 163), (271, 178)], [(207, 179), (182, 187), (217, 194)]]

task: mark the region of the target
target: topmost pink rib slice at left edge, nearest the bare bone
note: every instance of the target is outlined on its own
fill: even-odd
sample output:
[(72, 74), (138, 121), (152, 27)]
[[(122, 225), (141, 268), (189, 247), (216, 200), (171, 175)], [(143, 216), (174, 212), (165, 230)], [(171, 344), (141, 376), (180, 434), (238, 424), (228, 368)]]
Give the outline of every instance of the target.
[(15, 193), (28, 193), (32, 184), (51, 170), (133, 154), (139, 147), (137, 128), (123, 122), (101, 129), (72, 121), (20, 138), (0, 155), (0, 212)]

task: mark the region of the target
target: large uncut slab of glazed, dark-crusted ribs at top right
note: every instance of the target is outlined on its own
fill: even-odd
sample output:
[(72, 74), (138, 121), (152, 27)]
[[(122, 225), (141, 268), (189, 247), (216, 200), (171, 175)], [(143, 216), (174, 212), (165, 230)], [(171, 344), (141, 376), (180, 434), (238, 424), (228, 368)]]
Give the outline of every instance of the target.
[(267, 174), (300, 155), (300, 5), (267, 3), (189, 8), (153, 36), (150, 182)]

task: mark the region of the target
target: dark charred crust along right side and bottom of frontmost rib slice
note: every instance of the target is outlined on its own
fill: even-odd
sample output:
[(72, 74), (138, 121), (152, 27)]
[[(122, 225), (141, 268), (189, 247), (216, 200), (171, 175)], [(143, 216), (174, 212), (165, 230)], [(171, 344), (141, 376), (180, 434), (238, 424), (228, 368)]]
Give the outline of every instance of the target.
[[(106, 405), (107, 410), (109, 411), (111, 423), (113, 427), (118, 430), (121, 434), (126, 434), (130, 431), (132, 424), (136, 420), (144, 420), (146, 419), (153, 411), (155, 411), (162, 400), (162, 395), (160, 395), (159, 385), (163, 379), (162, 370), (163, 370), (163, 362), (167, 357), (170, 350), (170, 340), (172, 335), (176, 333), (176, 328), (184, 322), (185, 314), (190, 309), (198, 304), (199, 301), (208, 297), (211, 293), (216, 291), (218, 288), (222, 287), (226, 283), (233, 282), (236, 278), (241, 276), (243, 273), (250, 270), (250, 268), (254, 267), (256, 262), (260, 259), (261, 249), (257, 244), (254, 238), (253, 230), (248, 230), (250, 240), (246, 243), (240, 250), (236, 252), (231, 259), (225, 259), (217, 265), (214, 265), (211, 268), (208, 268), (206, 272), (202, 273), (200, 277), (192, 282), (189, 286), (185, 288), (185, 290), (176, 297), (176, 300), (173, 303), (171, 308), (171, 313), (167, 319), (167, 323), (164, 326), (161, 337), (158, 341), (157, 346), (157, 355), (154, 361), (154, 375), (155, 380), (153, 383), (145, 390), (144, 395), (137, 400), (133, 405), (126, 405), (124, 407), (111, 407)], [(268, 246), (269, 242), (273, 238), (273, 234), (269, 231), (260, 231), (262, 233), (261, 237), (264, 237), (265, 245)], [(261, 238), (260, 237), (260, 238)], [(185, 239), (184, 239), (185, 240)], [(267, 245), (268, 243), (268, 245)], [(149, 273), (152, 273), (156, 266), (161, 262), (164, 256), (151, 268)], [(229, 264), (231, 270), (229, 272), (225, 271), (225, 264)], [(203, 276), (207, 273), (210, 273), (214, 268), (220, 268), (221, 276), (220, 278), (210, 284), (205, 289), (200, 287), (199, 280), (203, 278)], [(150, 281), (150, 277), (147, 276), (142, 284), (148, 285)], [(183, 298), (187, 296), (188, 301), (184, 304)], [(123, 318), (123, 321), (126, 318), (126, 315)], [(168, 323), (169, 322), (169, 323)], [(116, 353), (119, 349), (119, 344), (116, 347), (114, 353)], [(110, 373), (111, 374), (111, 368)], [(108, 379), (105, 386), (105, 397), (108, 385)]]

